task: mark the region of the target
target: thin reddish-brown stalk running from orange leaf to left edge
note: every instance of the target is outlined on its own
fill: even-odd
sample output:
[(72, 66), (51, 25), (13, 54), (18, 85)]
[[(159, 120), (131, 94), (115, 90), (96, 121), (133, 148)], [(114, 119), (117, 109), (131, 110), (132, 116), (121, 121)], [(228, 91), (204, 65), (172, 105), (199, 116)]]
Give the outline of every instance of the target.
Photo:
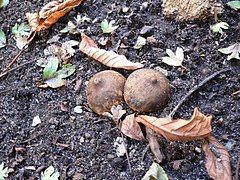
[(13, 58), (13, 60), (5, 67), (5, 69), (1, 72), (0, 78), (3, 77), (5, 74), (7, 74), (7, 70), (12, 67), (12, 65), (17, 61), (17, 59), (22, 55), (25, 49), (27, 49), (27, 46), (32, 42), (33, 38), (36, 35), (36, 31), (31, 32), (27, 43), (23, 46), (23, 48), (19, 51), (19, 53)]

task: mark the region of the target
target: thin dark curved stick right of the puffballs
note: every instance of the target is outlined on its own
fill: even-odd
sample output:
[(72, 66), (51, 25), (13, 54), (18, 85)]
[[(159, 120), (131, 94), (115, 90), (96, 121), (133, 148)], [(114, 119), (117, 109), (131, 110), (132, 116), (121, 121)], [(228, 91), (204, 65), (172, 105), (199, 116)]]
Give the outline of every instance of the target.
[(222, 69), (220, 71), (217, 71), (215, 73), (213, 73), (211, 76), (207, 77), (206, 79), (204, 79), (203, 81), (201, 81), (198, 85), (195, 85), (180, 101), (179, 103), (175, 106), (175, 108), (172, 110), (172, 112), (169, 114), (170, 119), (173, 118), (174, 114), (176, 113), (176, 111), (179, 109), (179, 107), (187, 100), (187, 98), (189, 96), (191, 96), (195, 91), (197, 91), (199, 88), (201, 88), (204, 84), (206, 84), (208, 81), (212, 80), (213, 78), (215, 78), (216, 76), (218, 76), (221, 73), (230, 71), (230, 68), (227, 69)]

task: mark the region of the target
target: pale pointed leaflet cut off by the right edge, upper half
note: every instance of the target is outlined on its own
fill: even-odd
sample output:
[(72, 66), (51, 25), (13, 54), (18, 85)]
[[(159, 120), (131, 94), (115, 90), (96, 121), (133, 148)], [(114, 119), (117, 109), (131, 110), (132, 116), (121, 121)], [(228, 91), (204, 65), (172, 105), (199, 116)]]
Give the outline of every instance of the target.
[(240, 59), (239, 53), (240, 53), (240, 43), (235, 43), (229, 47), (218, 49), (223, 54), (230, 54), (227, 57), (227, 60), (230, 59)]

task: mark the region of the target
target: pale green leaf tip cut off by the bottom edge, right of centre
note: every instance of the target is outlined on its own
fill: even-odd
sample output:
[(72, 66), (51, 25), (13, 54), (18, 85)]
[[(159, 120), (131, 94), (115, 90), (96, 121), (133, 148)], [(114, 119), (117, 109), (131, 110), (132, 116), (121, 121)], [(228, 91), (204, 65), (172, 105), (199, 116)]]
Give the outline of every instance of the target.
[(158, 163), (153, 162), (142, 180), (168, 180), (168, 176)]

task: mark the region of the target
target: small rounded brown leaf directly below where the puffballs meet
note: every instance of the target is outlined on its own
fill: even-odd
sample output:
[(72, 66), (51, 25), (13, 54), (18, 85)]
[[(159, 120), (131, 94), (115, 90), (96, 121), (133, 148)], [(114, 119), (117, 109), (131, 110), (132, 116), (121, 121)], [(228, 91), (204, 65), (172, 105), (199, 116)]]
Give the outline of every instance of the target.
[(144, 136), (139, 124), (135, 121), (135, 115), (128, 115), (122, 122), (121, 131), (126, 136), (138, 141), (144, 140)]

